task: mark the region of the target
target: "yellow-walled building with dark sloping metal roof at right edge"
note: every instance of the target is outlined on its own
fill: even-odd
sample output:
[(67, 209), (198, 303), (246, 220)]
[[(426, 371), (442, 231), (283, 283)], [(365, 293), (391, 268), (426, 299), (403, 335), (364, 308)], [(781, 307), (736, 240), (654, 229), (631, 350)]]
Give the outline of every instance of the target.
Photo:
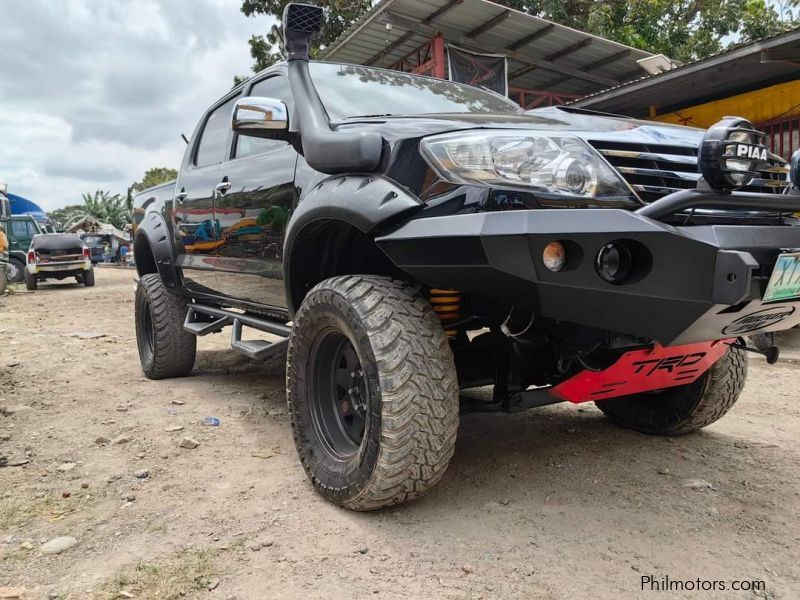
[(774, 153), (800, 149), (800, 29), (590, 94), (572, 106), (708, 128), (727, 115), (766, 131)]

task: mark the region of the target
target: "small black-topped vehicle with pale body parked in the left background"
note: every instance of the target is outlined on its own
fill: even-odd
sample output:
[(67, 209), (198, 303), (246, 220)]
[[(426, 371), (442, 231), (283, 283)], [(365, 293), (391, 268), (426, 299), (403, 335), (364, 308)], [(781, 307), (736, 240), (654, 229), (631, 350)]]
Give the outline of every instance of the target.
[(86, 287), (94, 285), (89, 248), (72, 233), (42, 233), (33, 237), (25, 266), (25, 287), (35, 290), (48, 279), (74, 277)]

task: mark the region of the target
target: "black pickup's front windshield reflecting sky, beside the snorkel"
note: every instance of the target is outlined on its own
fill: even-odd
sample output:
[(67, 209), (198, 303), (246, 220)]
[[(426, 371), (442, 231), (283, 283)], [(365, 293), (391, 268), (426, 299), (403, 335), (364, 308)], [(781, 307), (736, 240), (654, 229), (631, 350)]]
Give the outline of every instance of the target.
[(311, 63), (311, 76), (334, 119), (434, 113), (518, 114), (499, 94), (471, 85), (358, 65)]

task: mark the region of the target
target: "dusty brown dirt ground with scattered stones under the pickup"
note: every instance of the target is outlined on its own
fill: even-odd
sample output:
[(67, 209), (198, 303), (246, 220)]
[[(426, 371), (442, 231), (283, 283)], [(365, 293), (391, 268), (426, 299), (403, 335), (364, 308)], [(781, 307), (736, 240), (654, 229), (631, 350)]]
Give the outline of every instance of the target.
[(0, 598), (800, 597), (798, 361), (751, 360), (732, 412), (677, 438), (589, 405), (465, 416), (434, 491), (356, 514), (308, 483), (280, 364), (222, 334), (191, 377), (142, 376), (133, 277), (0, 298)]

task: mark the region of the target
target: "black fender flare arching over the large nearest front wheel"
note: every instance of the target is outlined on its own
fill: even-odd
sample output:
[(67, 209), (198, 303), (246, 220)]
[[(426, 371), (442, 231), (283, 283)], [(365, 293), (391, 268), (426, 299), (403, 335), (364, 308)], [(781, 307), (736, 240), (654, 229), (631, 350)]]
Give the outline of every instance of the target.
[(336, 175), (317, 183), (302, 195), (286, 228), (283, 274), (289, 312), (293, 306), (292, 254), (308, 227), (324, 220), (342, 221), (369, 233), (398, 215), (418, 209), (423, 202), (388, 177), (375, 174)]

